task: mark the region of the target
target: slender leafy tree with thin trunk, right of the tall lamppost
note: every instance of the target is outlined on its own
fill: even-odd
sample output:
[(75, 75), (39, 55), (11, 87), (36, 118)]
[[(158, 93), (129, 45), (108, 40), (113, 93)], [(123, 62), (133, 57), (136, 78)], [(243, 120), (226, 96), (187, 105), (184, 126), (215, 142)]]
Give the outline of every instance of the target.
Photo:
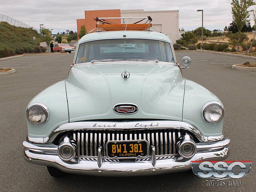
[(250, 12), (248, 10), (250, 6), (255, 5), (253, 0), (232, 0), (231, 2), (231, 12), (233, 17), (233, 22), (236, 24), (238, 29), (238, 41), (237, 41), (237, 51), (239, 52), (240, 46), (240, 36), (243, 26), (250, 21)]

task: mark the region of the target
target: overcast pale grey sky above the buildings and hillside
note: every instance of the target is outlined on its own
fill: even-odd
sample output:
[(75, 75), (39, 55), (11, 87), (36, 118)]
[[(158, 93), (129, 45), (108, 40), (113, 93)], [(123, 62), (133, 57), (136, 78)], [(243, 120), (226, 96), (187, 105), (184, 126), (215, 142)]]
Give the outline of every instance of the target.
[[(194, 30), (202, 25), (202, 13), (196, 10), (203, 9), (204, 27), (223, 30), (232, 22), (230, 3), (231, 0), (0, 0), (0, 14), (35, 28), (44, 24), (57, 33), (77, 31), (76, 19), (84, 18), (84, 10), (179, 10), (180, 28)], [(253, 26), (252, 16), (251, 23)]]

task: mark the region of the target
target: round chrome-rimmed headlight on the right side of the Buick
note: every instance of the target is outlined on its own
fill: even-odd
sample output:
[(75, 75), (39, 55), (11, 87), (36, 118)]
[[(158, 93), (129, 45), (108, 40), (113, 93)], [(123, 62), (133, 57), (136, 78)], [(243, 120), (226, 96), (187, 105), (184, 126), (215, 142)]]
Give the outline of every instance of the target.
[(203, 107), (204, 119), (210, 124), (216, 124), (224, 117), (224, 108), (217, 102), (206, 103)]

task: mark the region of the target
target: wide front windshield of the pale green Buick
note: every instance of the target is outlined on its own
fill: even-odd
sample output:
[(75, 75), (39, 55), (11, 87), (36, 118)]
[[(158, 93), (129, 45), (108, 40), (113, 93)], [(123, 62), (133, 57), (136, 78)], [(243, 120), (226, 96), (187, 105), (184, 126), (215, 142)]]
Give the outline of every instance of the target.
[(76, 64), (107, 59), (174, 62), (170, 43), (147, 39), (111, 39), (80, 44)]

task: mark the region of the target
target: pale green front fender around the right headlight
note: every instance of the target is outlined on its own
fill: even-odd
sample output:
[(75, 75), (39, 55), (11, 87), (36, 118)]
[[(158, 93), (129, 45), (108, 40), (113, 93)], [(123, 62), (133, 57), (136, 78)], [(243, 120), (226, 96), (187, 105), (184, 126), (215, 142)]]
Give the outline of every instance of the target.
[(183, 122), (198, 128), (205, 136), (221, 136), (223, 119), (217, 124), (209, 124), (202, 117), (202, 107), (210, 101), (220, 102), (212, 92), (199, 84), (187, 80), (185, 85)]

